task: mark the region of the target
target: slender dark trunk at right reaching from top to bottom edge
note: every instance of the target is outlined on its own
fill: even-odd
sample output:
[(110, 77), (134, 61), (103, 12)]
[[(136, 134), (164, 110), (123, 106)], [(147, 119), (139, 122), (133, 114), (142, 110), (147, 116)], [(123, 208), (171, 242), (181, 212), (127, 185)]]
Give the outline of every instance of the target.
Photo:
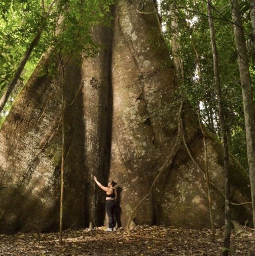
[(216, 47), (214, 23), (212, 20), (211, 5), (212, 5), (212, 1), (208, 0), (207, 12), (208, 12), (208, 20), (209, 20), (209, 26), (210, 26), (212, 55), (213, 55), (213, 61), (214, 61), (214, 79), (215, 79), (216, 95), (218, 99), (220, 129), (221, 129), (222, 138), (223, 138), (223, 158), (224, 158), (224, 170), (225, 170), (225, 230), (224, 230), (224, 241), (223, 241), (223, 255), (228, 255), (229, 248), (230, 248), (230, 234), (231, 234), (230, 160), (229, 160), (229, 152), (228, 152), (228, 138), (227, 138), (226, 123), (224, 119), (222, 90), (220, 85), (220, 74), (219, 74), (219, 64), (218, 64), (219, 59), (218, 59), (218, 51)]

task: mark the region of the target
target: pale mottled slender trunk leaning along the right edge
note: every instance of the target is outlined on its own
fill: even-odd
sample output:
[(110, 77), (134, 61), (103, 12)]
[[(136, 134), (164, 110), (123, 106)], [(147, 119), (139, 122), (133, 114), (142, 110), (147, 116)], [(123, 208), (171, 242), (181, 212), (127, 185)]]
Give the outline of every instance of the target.
[[(247, 159), (251, 182), (251, 200), (253, 208), (253, 226), (255, 227), (255, 110), (253, 89), (249, 71), (249, 59), (242, 29), (241, 14), (237, 0), (230, 0), (232, 20), (234, 22), (235, 45), (238, 53), (238, 64), (243, 94), (243, 110), (245, 118), (245, 133), (247, 144)], [(255, 230), (255, 229), (254, 229)]]

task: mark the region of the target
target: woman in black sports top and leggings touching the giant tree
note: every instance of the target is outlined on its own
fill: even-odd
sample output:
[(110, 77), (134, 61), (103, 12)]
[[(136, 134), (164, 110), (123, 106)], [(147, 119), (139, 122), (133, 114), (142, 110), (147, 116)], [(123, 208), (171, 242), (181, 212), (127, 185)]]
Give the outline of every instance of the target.
[(94, 181), (96, 181), (96, 184), (106, 191), (106, 213), (108, 215), (109, 219), (109, 226), (106, 229), (106, 231), (115, 231), (115, 225), (116, 225), (116, 203), (115, 199), (117, 197), (117, 193), (115, 192), (114, 187), (117, 185), (114, 181), (109, 181), (108, 187), (104, 187), (98, 180), (96, 179), (96, 176), (94, 176)]

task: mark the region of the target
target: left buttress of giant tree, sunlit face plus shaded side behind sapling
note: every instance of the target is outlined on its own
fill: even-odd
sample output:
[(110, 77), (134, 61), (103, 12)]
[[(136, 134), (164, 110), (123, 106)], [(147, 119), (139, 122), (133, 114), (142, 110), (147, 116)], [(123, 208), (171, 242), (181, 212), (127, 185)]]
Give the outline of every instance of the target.
[[(72, 100), (80, 85), (78, 62), (75, 59), (67, 66), (64, 92), (67, 101)], [(57, 73), (50, 75), (53, 65)], [(53, 51), (41, 58), (1, 128), (0, 172), (2, 186), (6, 187), (0, 191), (0, 214), (4, 219), (0, 224), (1, 232), (47, 231), (58, 227), (61, 163), (61, 73), (58, 67)], [(80, 100), (78, 96), (75, 104), (65, 108), (69, 130), (65, 145), (64, 228), (84, 223)]]

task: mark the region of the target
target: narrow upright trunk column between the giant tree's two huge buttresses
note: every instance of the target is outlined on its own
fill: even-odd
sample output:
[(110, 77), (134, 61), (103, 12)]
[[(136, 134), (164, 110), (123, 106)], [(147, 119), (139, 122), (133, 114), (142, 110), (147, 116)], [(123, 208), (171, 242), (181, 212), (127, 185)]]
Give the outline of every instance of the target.
[[(110, 57), (112, 28), (98, 25), (92, 29), (93, 40), (100, 45), (94, 57), (85, 58), (82, 63), (82, 94), (84, 107), (84, 163), (87, 170), (86, 225), (102, 225), (104, 221), (105, 195), (95, 186), (93, 176), (100, 181), (108, 179), (104, 170), (106, 134), (108, 133), (108, 95), (110, 88)], [(104, 176), (107, 177), (104, 177)]]

